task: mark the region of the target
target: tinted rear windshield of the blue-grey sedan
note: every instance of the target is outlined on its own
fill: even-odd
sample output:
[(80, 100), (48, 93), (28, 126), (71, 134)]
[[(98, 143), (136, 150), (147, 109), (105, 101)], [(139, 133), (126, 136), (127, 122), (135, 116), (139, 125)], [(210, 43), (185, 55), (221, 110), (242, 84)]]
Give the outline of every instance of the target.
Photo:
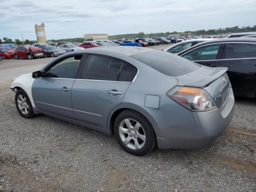
[(200, 67), (199, 64), (165, 51), (147, 51), (130, 57), (168, 76), (188, 74)]

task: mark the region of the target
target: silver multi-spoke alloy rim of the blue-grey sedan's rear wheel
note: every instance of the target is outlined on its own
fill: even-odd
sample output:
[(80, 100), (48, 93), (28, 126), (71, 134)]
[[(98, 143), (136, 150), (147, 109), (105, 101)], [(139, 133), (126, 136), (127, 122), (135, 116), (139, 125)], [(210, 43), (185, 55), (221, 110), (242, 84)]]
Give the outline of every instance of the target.
[(126, 146), (131, 149), (141, 149), (146, 142), (146, 134), (139, 122), (134, 119), (124, 119), (119, 125), (119, 135)]

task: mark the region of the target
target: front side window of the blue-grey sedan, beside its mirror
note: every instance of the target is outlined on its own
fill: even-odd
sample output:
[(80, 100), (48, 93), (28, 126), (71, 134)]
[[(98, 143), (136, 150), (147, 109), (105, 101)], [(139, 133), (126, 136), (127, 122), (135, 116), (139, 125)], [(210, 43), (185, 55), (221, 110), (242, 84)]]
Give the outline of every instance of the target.
[(76, 55), (58, 61), (56, 64), (46, 70), (44, 77), (75, 78), (76, 69), (81, 58), (82, 55)]

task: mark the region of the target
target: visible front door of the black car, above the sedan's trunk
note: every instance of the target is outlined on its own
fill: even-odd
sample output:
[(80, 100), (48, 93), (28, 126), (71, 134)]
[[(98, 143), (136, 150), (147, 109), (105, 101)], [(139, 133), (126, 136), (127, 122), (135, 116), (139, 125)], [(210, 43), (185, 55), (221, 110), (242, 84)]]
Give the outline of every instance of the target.
[(213, 43), (198, 46), (181, 56), (198, 64), (217, 67), (223, 50), (224, 43)]

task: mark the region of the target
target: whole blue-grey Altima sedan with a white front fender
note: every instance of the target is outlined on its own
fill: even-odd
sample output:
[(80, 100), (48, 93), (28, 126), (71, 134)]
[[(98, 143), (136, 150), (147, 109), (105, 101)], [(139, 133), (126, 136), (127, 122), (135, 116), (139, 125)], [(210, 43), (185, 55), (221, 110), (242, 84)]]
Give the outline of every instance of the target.
[(45, 114), (114, 134), (134, 155), (212, 146), (234, 114), (227, 68), (128, 46), (66, 53), (14, 79), (24, 118)]

